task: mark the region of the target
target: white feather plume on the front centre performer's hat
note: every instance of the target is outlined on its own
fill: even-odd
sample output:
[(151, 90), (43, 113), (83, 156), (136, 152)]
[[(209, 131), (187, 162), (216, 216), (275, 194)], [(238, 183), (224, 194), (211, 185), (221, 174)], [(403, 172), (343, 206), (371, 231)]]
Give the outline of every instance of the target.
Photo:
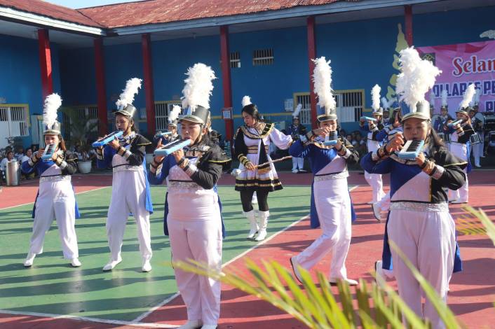
[(212, 80), (217, 78), (210, 66), (203, 63), (196, 63), (187, 69), (188, 76), (184, 82), (186, 85), (182, 90), (182, 108), (191, 108), (192, 111), (197, 106), (210, 109), (210, 96), (213, 90)]

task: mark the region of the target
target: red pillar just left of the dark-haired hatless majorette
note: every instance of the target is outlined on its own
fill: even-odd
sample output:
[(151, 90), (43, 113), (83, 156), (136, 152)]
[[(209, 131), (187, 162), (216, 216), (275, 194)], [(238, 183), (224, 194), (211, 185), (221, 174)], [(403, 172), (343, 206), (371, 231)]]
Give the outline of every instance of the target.
[[(222, 62), (222, 89), (224, 91), (224, 107), (232, 107), (232, 86), (230, 80), (229, 27), (220, 27), (220, 60)], [(233, 113), (232, 113), (233, 114)], [(233, 139), (233, 120), (225, 120), (225, 139)]]

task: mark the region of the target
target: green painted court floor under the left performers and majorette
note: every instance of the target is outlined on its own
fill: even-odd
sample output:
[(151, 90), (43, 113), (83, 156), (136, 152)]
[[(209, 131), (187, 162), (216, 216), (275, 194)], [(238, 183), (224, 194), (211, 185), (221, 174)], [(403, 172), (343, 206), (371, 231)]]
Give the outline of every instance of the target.
[[(76, 196), (82, 218), (76, 221), (79, 259), (72, 268), (62, 258), (56, 223), (46, 235), (43, 254), (31, 268), (22, 262), (32, 231), (32, 204), (0, 210), (0, 313), (61, 314), (117, 321), (133, 321), (177, 292), (170, 265), (170, 246), (163, 235), (165, 187), (152, 187), (155, 212), (151, 215), (153, 270), (141, 272), (136, 228), (130, 217), (123, 242), (123, 262), (111, 272), (102, 272), (109, 259), (105, 220), (111, 187)], [(286, 186), (271, 193), (269, 233), (283, 230), (308, 214), (308, 186)], [(219, 187), (227, 237), (223, 260), (228, 262), (255, 242), (245, 239), (248, 223), (242, 216), (238, 192)], [(164, 319), (166, 321), (166, 319)]]

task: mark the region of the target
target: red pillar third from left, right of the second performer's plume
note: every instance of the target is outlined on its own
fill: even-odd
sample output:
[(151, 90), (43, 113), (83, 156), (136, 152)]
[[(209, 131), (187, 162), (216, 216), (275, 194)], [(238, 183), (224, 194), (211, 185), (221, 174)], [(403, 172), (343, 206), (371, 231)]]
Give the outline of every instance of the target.
[(154, 134), (155, 99), (153, 92), (153, 65), (151, 63), (151, 38), (149, 33), (142, 34), (142, 60), (144, 69), (144, 94), (146, 96), (146, 122), (148, 132)]

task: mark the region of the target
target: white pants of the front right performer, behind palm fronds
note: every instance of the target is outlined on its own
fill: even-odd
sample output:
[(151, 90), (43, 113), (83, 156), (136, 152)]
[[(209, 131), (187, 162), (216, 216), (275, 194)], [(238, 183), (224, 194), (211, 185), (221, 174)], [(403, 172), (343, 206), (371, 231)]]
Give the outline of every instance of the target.
[[(447, 302), (449, 279), (456, 252), (455, 224), (448, 212), (392, 210), (388, 238), (398, 245), (426, 280)], [(393, 272), (399, 295), (418, 315), (428, 318), (433, 328), (444, 328), (433, 304), (427, 299), (421, 307), (421, 288), (399, 255), (392, 250)]]

